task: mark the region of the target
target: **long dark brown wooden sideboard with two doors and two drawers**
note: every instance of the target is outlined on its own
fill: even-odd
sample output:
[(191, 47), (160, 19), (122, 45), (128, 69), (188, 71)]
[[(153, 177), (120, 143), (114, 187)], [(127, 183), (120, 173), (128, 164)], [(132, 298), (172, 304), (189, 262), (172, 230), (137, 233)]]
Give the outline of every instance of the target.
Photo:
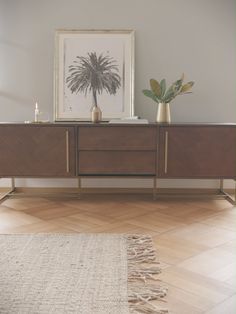
[(91, 176), (236, 180), (236, 124), (0, 124), (0, 177)]

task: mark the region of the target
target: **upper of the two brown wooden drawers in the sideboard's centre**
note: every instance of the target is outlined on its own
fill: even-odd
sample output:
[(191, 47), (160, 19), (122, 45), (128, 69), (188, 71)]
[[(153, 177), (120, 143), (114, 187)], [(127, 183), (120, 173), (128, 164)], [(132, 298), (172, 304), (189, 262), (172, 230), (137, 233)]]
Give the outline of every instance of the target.
[(79, 150), (156, 150), (155, 126), (80, 127)]

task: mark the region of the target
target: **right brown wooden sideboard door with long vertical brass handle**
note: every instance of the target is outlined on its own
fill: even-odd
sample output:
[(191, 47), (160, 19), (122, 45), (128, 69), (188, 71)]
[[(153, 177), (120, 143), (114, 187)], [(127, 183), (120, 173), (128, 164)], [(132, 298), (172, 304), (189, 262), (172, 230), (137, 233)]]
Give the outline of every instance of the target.
[(235, 126), (161, 127), (159, 140), (159, 177), (236, 178)]

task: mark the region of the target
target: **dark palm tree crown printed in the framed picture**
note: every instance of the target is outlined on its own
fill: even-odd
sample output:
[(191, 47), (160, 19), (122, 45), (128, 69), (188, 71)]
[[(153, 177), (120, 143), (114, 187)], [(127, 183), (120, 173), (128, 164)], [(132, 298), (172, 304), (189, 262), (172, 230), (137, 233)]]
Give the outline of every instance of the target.
[(97, 94), (105, 90), (115, 95), (121, 86), (121, 77), (114, 58), (97, 56), (96, 52), (88, 53), (86, 57), (77, 56), (69, 66), (69, 76), (66, 78), (68, 88), (72, 93), (92, 92), (94, 105), (97, 107)]

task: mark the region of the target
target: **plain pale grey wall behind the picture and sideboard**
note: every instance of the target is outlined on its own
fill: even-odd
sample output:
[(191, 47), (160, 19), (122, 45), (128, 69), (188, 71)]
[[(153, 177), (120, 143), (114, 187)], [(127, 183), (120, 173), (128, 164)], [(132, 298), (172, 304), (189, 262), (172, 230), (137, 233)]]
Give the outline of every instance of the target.
[(171, 83), (185, 72), (194, 93), (171, 103), (173, 122), (236, 122), (235, 9), (234, 0), (0, 0), (0, 121), (31, 120), (36, 100), (53, 119), (55, 29), (128, 28), (135, 114), (155, 120), (141, 92), (151, 77)]

